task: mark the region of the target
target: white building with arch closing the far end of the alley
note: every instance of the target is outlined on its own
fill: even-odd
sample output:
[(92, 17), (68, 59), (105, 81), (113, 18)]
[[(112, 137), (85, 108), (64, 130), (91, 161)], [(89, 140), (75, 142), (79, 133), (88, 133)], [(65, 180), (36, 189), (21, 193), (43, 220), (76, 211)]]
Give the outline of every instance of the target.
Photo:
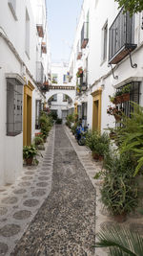
[(51, 86), (46, 98), (51, 111), (56, 112), (65, 123), (69, 106), (74, 106), (75, 99), (75, 84), (70, 81), (66, 63), (51, 63)]

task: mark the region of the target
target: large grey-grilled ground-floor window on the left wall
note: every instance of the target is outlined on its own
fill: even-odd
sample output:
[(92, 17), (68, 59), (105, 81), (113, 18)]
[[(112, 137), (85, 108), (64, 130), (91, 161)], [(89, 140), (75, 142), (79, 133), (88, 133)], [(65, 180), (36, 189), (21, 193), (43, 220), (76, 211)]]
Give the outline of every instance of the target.
[(23, 83), (7, 79), (7, 135), (16, 136), (22, 131)]

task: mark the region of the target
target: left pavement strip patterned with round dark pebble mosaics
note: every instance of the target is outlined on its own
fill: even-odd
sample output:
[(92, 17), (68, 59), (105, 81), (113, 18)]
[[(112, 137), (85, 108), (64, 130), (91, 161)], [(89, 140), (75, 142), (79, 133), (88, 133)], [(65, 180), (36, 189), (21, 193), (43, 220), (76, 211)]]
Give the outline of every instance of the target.
[(46, 143), (46, 151), (41, 151), (43, 158), (39, 157), (39, 165), (24, 167), (23, 174), (13, 185), (0, 188), (0, 256), (10, 256), (51, 192), (53, 149), (54, 128)]

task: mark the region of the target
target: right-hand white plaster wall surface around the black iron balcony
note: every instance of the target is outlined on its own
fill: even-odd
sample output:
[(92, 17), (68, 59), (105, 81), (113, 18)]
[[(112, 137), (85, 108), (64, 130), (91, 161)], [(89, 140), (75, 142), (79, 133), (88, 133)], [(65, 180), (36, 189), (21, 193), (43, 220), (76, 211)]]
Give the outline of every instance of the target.
[[(88, 12), (89, 40), (86, 47), (81, 49), (81, 30), (83, 23), (87, 21)], [(112, 95), (116, 88), (124, 86), (129, 82), (140, 81), (139, 104), (143, 105), (141, 97), (143, 90), (143, 31), (141, 30), (141, 13), (134, 15), (134, 44), (137, 44), (137, 47), (132, 52), (132, 58), (133, 63), (136, 63), (137, 67), (133, 68), (131, 66), (130, 56), (127, 55), (117, 64), (112, 64), (114, 76), (118, 76), (118, 79), (113, 79), (112, 69), (109, 66), (109, 48), (111, 47), (109, 45), (109, 29), (119, 12), (120, 10), (114, 0), (110, 0), (107, 3), (104, 0), (85, 0), (82, 6), (69, 69), (72, 74), (72, 83), (76, 81), (76, 73), (79, 67), (83, 68), (84, 73), (88, 73), (87, 90), (85, 92), (82, 91), (79, 95), (77, 93), (75, 103), (77, 105), (81, 105), (84, 102), (87, 103), (87, 123), (90, 124), (90, 128), (93, 126), (93, 119), (96, 118), (93, 113), (93, 97), (96, 96), (93, 95), (97, 94), (98, 91), (101, 92), (101, 130), (107, 128), (108, 125), (110, 127), (115, 125), (113, 116), (107, 114), (107, 108), (108, 105), (112, 105), (109, 95)], [(123, 29), (123, 26), (120, 30), (116, 30), (117, 33), (120, 33), (121, 29)], [(116, 36), (118, 36), (116, 38), (119, 38), (119, 35)], [(79, 52), (82, 53), (82, 57), (77, 59)], [(87, 58), (88, 61), (86, 61)]]

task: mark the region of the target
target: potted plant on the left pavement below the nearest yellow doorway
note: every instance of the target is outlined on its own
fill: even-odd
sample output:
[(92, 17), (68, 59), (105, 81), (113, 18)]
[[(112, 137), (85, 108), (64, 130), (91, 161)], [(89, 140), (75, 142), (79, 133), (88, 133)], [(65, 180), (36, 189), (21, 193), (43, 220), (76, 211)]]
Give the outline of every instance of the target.
[(33, 145), (23, 147), (23, 158), (26, 161), (27, 165), (31, 165), (33, 157), (36, 156), (37, 151)]

